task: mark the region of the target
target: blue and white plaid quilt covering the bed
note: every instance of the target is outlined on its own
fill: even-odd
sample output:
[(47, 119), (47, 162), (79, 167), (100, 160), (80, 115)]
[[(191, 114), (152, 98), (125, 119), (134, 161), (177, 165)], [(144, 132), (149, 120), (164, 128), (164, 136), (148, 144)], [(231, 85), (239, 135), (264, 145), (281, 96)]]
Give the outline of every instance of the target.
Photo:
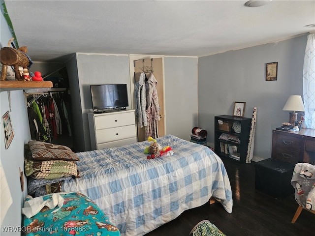
[(210, 148), (173, 135), (157, 142), (174, 155), (148, 160), (148, 141), (77, 153), (80, 178), (64, 181), (63, 191), (89, 196), (122, 236), (142, 236), (211, 196), (232, 212), (229, 178)]

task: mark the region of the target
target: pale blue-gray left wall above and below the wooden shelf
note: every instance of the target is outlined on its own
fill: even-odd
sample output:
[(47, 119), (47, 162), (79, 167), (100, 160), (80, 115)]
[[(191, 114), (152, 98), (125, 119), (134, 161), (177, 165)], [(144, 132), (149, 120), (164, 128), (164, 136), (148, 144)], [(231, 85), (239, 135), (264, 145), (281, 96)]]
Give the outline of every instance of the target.
[[(12, 37), (6, 21), (2, 14), (0, 14), (1, 23), (1, 45), (7, 46), (8, 41)], [(13, 199), (13, 204), (8, 209), (8, 213), (5, 215), (3, 223), (1, 224), (0, 235), (20, 235), (15, 232), (3, 232), (5, 226), (17, 227), (21, 226), (21, 206), (25, 196), (27, 195), (26, 178), (24, 177), (24, 192), (21, 190), (19, 168), (24, 170), (24, 144), (31, 139), (31, 133), (29, 128), (29, 119), (27, 115), (27, 109), (24, 101), (23, 90), (10, 91), (11, 111), (10, 103), (7, 91), (0, 92), (0, 116), (10, 111), (10, 117), (12, 121), (12, 127), (14, 132), (13, 140), (8, 149), (5, 149), (4, 143), (4, 131), (3, 123), (1, 119), (0, 127), (0, 159), (4, 169), (4, 174), (8, 181), (9, 189)]]

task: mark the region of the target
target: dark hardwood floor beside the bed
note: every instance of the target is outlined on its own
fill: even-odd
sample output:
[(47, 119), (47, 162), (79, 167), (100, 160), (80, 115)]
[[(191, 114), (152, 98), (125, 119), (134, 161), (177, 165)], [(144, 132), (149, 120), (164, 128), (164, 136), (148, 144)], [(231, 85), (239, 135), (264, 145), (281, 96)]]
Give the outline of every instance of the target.
[(239, 164), (227, 159), (223, 162), (232, 187), (231, 214), (220, 203), (207, 203), (183, 212), (146, 236), (189, 236), (191, 229), (204, 219), (210, 220), (227, 236), (315, 235), (315, 215), (311, 212), (303, 210), (297, 221), (291, 223), (298, 207), (293, 193), (284, 200), (274, 199), (255, 190), (253, 162)]

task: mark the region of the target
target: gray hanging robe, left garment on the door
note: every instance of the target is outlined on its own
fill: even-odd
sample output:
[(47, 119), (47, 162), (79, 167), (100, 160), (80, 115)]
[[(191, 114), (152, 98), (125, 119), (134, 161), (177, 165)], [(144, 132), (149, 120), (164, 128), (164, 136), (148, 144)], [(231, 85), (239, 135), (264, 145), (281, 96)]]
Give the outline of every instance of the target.
[[(140, 74), (139, 81), (134, 84), (134, 95), (136, 101), (136, 117), (138, 118), (138, 126), (140, 128), (148, 125), (146, 115), (146, 85), (145, 85), (145, 73)], [(142, 124), (143, 123), (143, 124)]]

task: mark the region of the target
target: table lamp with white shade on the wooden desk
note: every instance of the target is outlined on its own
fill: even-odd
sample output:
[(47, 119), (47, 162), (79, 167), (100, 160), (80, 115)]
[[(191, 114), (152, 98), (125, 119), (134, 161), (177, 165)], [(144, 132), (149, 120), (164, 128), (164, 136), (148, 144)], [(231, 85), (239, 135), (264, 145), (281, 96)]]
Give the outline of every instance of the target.
[[(289, 116), (289, 123), (295, 126), (295, 120), (297, 120), (297, 112), (305, 112), (302, 97), (300, 95), (291, 95), (287, 99), (283, 111), (291, 111)], [(297, 127), (294, 127), (296, 129)], [(297, 128), (298, 129), (298, 128)]]

